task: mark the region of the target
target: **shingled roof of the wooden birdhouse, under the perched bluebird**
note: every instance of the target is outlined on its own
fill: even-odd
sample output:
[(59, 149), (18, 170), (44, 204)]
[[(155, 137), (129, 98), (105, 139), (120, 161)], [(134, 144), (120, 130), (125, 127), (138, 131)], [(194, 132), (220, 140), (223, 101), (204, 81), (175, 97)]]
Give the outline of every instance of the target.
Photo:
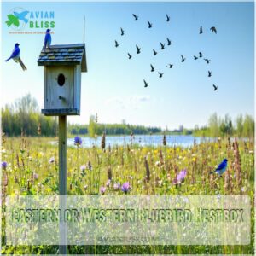
[(81, 65), (82, 72), (87, 72), (85, 44), (59, 44), (44, 47), (38, 58), (38, 66)]

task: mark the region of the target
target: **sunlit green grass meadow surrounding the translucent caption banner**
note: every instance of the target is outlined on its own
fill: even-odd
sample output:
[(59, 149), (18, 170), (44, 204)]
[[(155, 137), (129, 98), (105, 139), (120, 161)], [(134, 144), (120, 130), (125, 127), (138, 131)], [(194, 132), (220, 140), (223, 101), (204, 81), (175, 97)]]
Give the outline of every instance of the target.
[[(55, 195), (58, 193), (58, 147), (49, 144), (53, 138), (15, 137), (4, 138), (2, 160), (8, 167), (3, 174), (3, 202), (6, 195)], [(159, 146), (67, 148), (67, 194), (96, 195), (105, 186), (108, 177), (112, 183), (106, 195), (123, 195), (113, 189), (113, 183), (131, 183), (129, 195), (249, 195), (254, 201), (254, 152), (253, 140), (238, 142), (239, 154), (227, 139), (217, 143), (203, 143), (192, 148)], [(51, 157), (55, 158), (49, 163)], [(148, 161), (149, 180), (146, 179), (145, 157)], [(229, 167), (223, 178), (208, 173), (227, 158)], [(81, 173), (80, 166), (92, 166)], [(184, 182), (172, 184), (181, 170), (187, 170)], [(35, 178), (35, 175), (38, 178)], [(236, 174), (236, 175), (235, 175)], [(3, 209), (4, 211), (4, 206)], [(69, 246), (69, 253), (214, 253), (253, 254), (252, 242), (247, 246)], [(4, 229), (4, 219), (3, 219)], [(2, 253), (55, 254), (57, 246), (11, 247), (5, 246), (2, 229)]]

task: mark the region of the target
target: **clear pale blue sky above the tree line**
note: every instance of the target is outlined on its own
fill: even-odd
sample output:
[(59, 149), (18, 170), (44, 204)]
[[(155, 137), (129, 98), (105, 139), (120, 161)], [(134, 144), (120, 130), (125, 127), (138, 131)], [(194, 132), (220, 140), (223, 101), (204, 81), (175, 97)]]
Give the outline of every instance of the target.
[[(253, 114), (254, 109), (254, 6), (253, 3), (3, 3), (1, 104), (31, 93), (43, 108), (44, 68), (37, 60), (44, 34), (10, 34), (4, 23), (11, 9), (54, 11), (52, 44), (85, 44), (88, 73), (82, 74), (81, 115), (71, 123), (88, 123), (98, 113), (99, 122), (156, 125), (168, 128), (205, 125), (216, 112)], [(132, 14), (139, 16), (134, 21)], [(166, 22), (166, 14), (171, 22)], [(148, 29), (147, 20), (153, 23)], [(200, 26), (203, 34), (199, 34)], [(218, 33), (210, 32), (216, 26)], [(120, 27), (125, 36), (120, 36)], [(44, 32), (45, 29), (24, 31)], [(172, 40), (160, 50), (160, 42)], [(114, 47), (114, 40), (120, 44)], [(27, 71), (5, 62), (20, 43)], [(142, 48), (136, 54), (135, 45)], [(152, 49), (158, 51), (153, 56)], [(194, 61), (201, 51), (206, 61)], [(128, 60), (127, 52), (132, 55)], [(186, 57), (181, 63), (180, 55)], [(164, 73), (159, 79), (150, 63)], [(172, 69), (166, 67), (172, 63)], [(207, 77), (207, 71), (212, 77)], [(143, 87), (143, 79), (149, 83)], [(216, 92), (212, 84), (218, 85)]]

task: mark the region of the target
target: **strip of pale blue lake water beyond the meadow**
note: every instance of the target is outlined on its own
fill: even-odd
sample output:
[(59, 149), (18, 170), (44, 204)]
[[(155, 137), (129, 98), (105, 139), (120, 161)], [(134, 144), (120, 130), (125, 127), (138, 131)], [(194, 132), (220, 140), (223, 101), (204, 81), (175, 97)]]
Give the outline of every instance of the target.
[[(91, 148), (93, 145), (101, 147), (102, 137), (90, 138), (90, 137), (81, 137), (82, 138), (82, 147)], [(166, 135), (167, 146), (182, 146), (185, 148), (193, 146), (194, 142), (205, 143), (213, 141), (213, 138), (206, 137), (193, 137), (191, 135)], [(138, 144), (139, 146), (159, 146), (163, 144), (162, 135), (135, 135), (131, 136), (107, 136), (106, 137), (106, 148), (108, 145), (113, 147), (114, 145), (127, 145), (127, 144)], [(74, 139), (67, 139), (67, 146), (74, 146)]]

